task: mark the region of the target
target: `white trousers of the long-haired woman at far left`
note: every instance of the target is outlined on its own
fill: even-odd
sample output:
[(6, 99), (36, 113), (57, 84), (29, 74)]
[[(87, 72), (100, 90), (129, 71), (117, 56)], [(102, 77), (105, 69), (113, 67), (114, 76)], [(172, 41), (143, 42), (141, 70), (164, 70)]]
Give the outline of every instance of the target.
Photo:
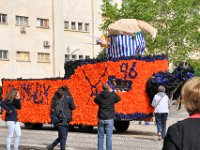
[(8, 137), (7, 137), (7, 143), (6, 143), (6, 149), (10, 150), (11, 142), (13, 133), (15, 131), (16, 137), (15, 137), (15, 143), (14, 143), (14, 150), (18, 150), (20, 137), (21, 137), (21, 127), (19, 122), (16, 121), (7, 121), (8, 126)]

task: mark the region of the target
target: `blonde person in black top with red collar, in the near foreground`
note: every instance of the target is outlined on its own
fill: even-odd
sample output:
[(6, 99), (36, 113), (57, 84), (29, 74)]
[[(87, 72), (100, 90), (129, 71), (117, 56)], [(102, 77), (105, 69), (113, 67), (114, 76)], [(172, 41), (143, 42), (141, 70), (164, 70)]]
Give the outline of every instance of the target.
[(199, 150), (200, 148), (200, 77), (189, 79), (181, 96), (189, 117), (170, 126), (162, 150)]

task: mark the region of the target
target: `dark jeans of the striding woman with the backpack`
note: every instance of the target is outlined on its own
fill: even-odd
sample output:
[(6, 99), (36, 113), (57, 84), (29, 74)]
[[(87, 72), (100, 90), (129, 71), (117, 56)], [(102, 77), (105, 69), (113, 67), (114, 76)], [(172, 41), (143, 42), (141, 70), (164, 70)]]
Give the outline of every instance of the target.
[(57, 126), (57, 129), (58, 129), (58, 138), (51, 144), (51, 146), (54, 148), (58, 143), (60, 143), (60, 149), (65, 150), (65, 145), (68, 135), (68, 126), (59, 125)]

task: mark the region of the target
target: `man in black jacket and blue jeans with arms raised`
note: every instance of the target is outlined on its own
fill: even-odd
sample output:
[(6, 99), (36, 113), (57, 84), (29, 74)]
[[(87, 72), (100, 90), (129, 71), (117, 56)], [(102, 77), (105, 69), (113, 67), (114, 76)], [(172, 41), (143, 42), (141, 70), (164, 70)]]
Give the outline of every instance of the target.
[(120, 101), (120, 97), (111, 92), (108, 83), (103, 84), (103, 91), (96, 96), (94, 102), (99, 106), (98, 110), (98, 150), (103, 150), (104, 130), (106, 131), (106, 150), (112, 150), (112, 133), (114, 126), (114, 104)]

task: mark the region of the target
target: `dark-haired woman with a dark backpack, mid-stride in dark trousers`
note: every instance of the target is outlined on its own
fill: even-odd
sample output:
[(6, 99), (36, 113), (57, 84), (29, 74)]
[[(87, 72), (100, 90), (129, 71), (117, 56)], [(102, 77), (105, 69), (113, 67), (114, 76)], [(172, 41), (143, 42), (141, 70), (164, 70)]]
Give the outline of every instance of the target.
[(58, 138), (50, 145), (47, 146), (48, 150), (53, 150), (54, 147), (60, 143), (60, 149), (65, 150), (68, 132), (67, 117), (64, 113), (64, 93), (62, 89), (58, 89), (53, 97), (51, 105), (52, 123), (58, 130)]

